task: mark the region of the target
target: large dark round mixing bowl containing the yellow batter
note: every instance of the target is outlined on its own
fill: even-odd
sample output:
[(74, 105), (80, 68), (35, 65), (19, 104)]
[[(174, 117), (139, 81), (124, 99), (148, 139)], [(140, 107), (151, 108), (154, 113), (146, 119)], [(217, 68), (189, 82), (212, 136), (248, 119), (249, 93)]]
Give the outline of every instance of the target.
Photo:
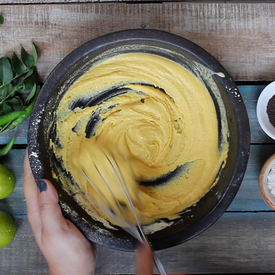
[[(108, 248), (134, 251), (136, 241), (131, 236), (122, 229), (107, 229), (108, 233), (106, 234), (104, 231), (106, 228), (87, 214), (63, 190), (59, 180), (52, 177), (50, 165), (52, 153), (49, 150), (48, 134), (46, 133), (51, 122), (48, 111), (57, 107), (62, 97), (62, 87), (68, 82), (68, 79), (71, 84), (84, 73), (85, 64), (102, 52), (122, 45), (133, 44), (172, 50), (187, 59), (196, 60), (215, 72), (225, 74), (224, 78), (214, 76), (213, 78), (226, 107), (230, 131), (226, 167), (222, 170), (218, 183), (196, 205), (189, 207), (188, 211), (184, 211), (170, 227), (149, 235), (153, 249), (161, 250), (195, 237), (211, 226), (225, 212), (239, 189), (248, 162), (250, 127), (244, 103), (230, 75), (208, 52), (182, 37), (156, 30), (126, 30), (87, 42), (63, 59), (46, 79), (31, 117), (28, 150), (36, 181), (47, 178), (53, 183), (59, 193), (64, 215), (88, 239)], [(77, 74), (75, 74), (76, 71)]]

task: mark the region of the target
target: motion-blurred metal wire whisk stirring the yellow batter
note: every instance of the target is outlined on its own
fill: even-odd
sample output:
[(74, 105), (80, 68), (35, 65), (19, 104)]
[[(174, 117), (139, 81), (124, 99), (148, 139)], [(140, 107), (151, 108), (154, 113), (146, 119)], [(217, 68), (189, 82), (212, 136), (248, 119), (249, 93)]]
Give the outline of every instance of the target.
[[(99, 174), (100, 178), (102, 179), (103, 183), (107, 187), (107, 190), (112, 195), (112, 198), (116, 202), (117, 207), (114, 207), (106, 199), (106, 197), (104, 196), (102, 191), (92, 182), (92, 180), (88, 177), (87, 173), (85, 173), (85, 171), (80, 167), (80, 170), (81, 170), (82, 174), (85, 176), (85, 178), (91, 184), (91, 186), (96, 191), (96, 193), (98, 194), (98, 196), (101, 200), (98, 200), (98, 199), (95, 199), (95, 197), (92, 197), (86, 191), (86, 189), (84, 188), (86, 196), (89, 197), (91, 202), (98, 209), (100, 209), (100, 211), (102, 211), (105, 215), (109, 216), (118, 226), (120, 226), (122, 229), (124, 229), (126, 232), (128, 232), (130, 235), (132, 235), (134, 238), (136, 238), (141, 243), (148, 244), (151, 247), (151, 245), (150, 245), (150, 243), (149, 243), (149, 241), (146, 237), (146, 234), (144, 233), (144, 231), (142, 229), (140, 219), (139, 219), (139, 217), (137, 215), (137, 212), (135, 210), (135, 206), (134, 206), (133, 201), (131, 199), (129, 189), (127, 187), (127, 184), (125, 182), (125, 178), (123, 176), (123, 173), (120, 169), (120, 166), (119, 166), (118, 162), (116, 161), (113, 154), (106, 154), (106, 152), (103, 152), (103, 155), (104, 155), (104, 157), (106, 157), (107, 163), (109, 164), (109, 166), (112, 170), (112, 173), (114, 174), (114, 177), (116, 178), (117, 182), (119, 183), (120, 188), (122, 189), (123, 195), (125, 196), (126, 201), (127, 201), (128, 205), (130, 207), (130, 211), (133, 214), (134, 221), (136, 222), (137, 227), (131, 221), (127, 211), (124, 208), (124, 206), (121, 204), (119, 199), (115, 196), (112, 188), (109, 186), (106, 178), (103, 176), (103, 173), (100, 172), (100, 169), (97, 166), (97, 164), (95, 163), (95, 161), (93, 161), (93, 165), (94, 165), (97, 173)], [(127, 161), (130, 169), (132, 170), (132, 167), (131, 167), (129, 161), (127, 159), (125, 159), (125, 160)], [(132, 170), (132, 173), (133, 173), (133, 170)], [(135, 194), (136, 194), (136, 197), (137, 197), (138, 202), (139, 202), (138, 203), (139, 208), (141, 209), (141, 204), (140, 204), (140, 199), (139, 199), (137, 188), (136, 188), (136, 193)], [(152, 255), (153, 255), (154, 263), (155, 263), (160, 275), (167, 275), (162, 263), (160, 262), (159, 258), (155, 255), (153, 250), (152, 250)]]

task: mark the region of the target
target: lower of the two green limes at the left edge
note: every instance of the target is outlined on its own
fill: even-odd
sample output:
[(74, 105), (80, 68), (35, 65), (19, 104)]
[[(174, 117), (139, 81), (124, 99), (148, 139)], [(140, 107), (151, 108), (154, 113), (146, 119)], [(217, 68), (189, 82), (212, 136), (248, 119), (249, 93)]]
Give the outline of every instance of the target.
[(5, 212), (0, 211), (0, 248), (4, 248), (14, 239), (16, 226), (13, 219)]

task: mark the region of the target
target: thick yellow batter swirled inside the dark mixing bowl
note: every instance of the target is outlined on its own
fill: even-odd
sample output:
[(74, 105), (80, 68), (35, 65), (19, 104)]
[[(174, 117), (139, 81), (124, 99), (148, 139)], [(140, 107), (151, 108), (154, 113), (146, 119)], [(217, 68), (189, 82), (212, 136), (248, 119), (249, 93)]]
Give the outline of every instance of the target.
[(129, 159), (142, 182), (145, 224), (174, 218), (196, 203), (226, 162), (228, 143), (218, 148), (217, 114), (208, 90), (181, 65), (153, 54), (122, 54), (95, 64), (65, 93), (56, 117), (53, 152), (91, 196), (94, 190), (79, 166), (94, 177), (90, 158), (96, 155), (106, 167), (98, 146)]

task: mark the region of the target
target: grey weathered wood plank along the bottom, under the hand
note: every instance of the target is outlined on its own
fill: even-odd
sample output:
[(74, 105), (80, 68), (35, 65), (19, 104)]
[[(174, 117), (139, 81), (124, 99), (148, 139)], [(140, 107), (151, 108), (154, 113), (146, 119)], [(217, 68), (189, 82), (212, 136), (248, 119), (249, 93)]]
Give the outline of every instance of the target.
[[(12, 244), (0, 251), (0, 274), (47, 274), (26, 216)], [(194, 239), (157, 252), (169, 274), (274, 272), (274, 213), (225, 213)], [(96, 274), (131, 274), (134, 254), (97, 246)], [(203, 259), (203, 260), (202, 260)]]

